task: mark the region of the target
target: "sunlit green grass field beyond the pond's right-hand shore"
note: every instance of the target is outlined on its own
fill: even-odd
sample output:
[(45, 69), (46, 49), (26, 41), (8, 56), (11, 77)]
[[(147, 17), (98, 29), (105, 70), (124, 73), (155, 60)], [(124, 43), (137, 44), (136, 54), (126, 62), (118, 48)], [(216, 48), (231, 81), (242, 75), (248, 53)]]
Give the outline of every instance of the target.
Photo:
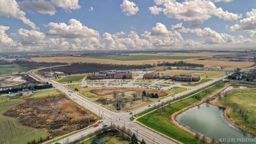
[[(225, 105), (225, 101), (229, 101), (227, 105), (231, 108), (229, 113), (232, 121), (236, 124), (240, 124), (243, 127), (246, 127), (247, 130), (256, 134), (256, 89), (255, 88), (244, 88), (244, 89), (234, 89), (231, 90), (228, 96), (222, 100), (217, 101), (221, 105)], [(238, 109), (232, 111), (232, 105), (237, 103)], [(240, 108), (244, 111), (245, 115), (248, 116), (247, 121), (245, 121), (240, 115)]]

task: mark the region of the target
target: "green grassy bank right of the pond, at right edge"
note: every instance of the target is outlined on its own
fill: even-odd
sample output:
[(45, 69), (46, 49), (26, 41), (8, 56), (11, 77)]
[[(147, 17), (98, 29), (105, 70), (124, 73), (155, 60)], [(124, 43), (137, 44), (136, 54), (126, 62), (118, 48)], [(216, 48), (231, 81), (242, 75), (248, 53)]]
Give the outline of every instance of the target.
[[(226, 97), (217, 101), (226, 107), (228, 119), (242, 130), (256, 135), (256, 89), (243, 88), (231, 90)], [(236, 104), (237, 107), (235, 106)], [(245, 118), (247, 119), (245, 120)]]

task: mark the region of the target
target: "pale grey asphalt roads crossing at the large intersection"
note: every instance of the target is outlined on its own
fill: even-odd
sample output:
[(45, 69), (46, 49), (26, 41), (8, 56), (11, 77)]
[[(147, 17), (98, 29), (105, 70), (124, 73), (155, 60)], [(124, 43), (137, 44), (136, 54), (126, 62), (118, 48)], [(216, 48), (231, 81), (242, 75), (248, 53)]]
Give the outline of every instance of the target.
[[(35, 70), (32, 70), (32, 71), (29, 71), (28, 73), (29, 73), (29, 75), (32, 75), (33, 77), (35, 77), (36, 79), (39, 79), (42, 82), (52, 83), (48, 79), (45, 79), (45, 78), (43, 78), (39, 75), (36, 75), (35, 71), (38, 71), (38, 70), (40, 70), (40, 69), (35, 69)], [(219, 81), (220, 79), (223, 79), (223, 78), (213, 79), (213, 81), (206, 82), (206, 83), (204, 83), (204, 85), (200, 84), (199, 86), (191, 87), (189, 90), (186, 90), (184, 92), (176, 94), (175, 98), (179, 98), (180, 96), (183, 96), (185, 94), (189, 94), (190, 92), (192, 92), (194, 90), (198, 90), (198, 89), (202, 88), (202, 86), (208, 86), (208, 85), (212, 84), (215, 81)], [(96, 128), (88, 128), (88, 129), (83, 130), (82, 132), (79, 132), (77, 134), (70, 135), (69, 137), (66, 137), (66, 138), (61, 139), (60, 141), (58, 141), (59, 143), (67, 143), (67, 141), (69, 141), (69, 142), (75, 141), (76, 139), (81, 138), (82, 135), (83, 136), (88, 135), (92, 132), (95, 132), (99, 128), (102, 128), (103, 124), (110, 125), (111, 122), (114, 123), (114, 124), (118, 124), (120, 127), (126, 126), (126, 128), (130, 128), (130, 130), (132, 130), (132, 132), (134, 134), (138, 135), (138, 139), (140, 139), (140, 140), (144, 139), (145, 142), (148, 143), (148, 144), (150, 144), (150, 143), (161, 143), (161, 144), (177, 143), (177, 141), (172, 141), (170, 139), (167, 139), (166, 137), (163, 137), (162, 135), (159, 135), (156, 132), (153, 132), (153, 131), (149, 130), (148, 128), (144, 128), (143, 126), (140, 126), (139, 124), (136, 124), (135, 122), (130, 122), (129, 118), (131, 117), (131, 115), (129, 115), (129, 113), (124, 113), (124, 112), (116, 113), (114, 111), (106, 109), (105, 107), (102, 107), (101, 105), (99, 105), (97, 103), (94, 103), (90, 99), (82, 97), (80, 94), (78, 94), (76, 92), (71, 92), (68, 88), (66, 88), (62, 84), (52, 83), (52, 85), (55, 88), (57, 88), (58, 90), (64, 92), (64, 94), (69, 96), (69, 98), (71, 98), (73, 101), (75, 101), (76, 103), (78, 103), (82, 107), (88, 109), (92, 113), (95, 113), (96, 115), (103, 118), (103, 123), (100, 124), (100, 126), (98, 126)], [(155, 103), (152, 103), (151, 105), (153, 106), (154, 104), (158, 104), (158, 103), (161, 103), (161, 102), (166, 102), (170, 99), (172, 99), (172, 97), (161, 99), (160, 102), (155, 102)], [(140, 113), (142, 111), (145, 111), (146, 109), (149, 109), (149, 108), (150, 107), (148, 107), (148, 105), (145, 105), (143, 107), (139, 107), (139, 108), (134, 109), (132, 111), (135, 114), (135, 113)]]

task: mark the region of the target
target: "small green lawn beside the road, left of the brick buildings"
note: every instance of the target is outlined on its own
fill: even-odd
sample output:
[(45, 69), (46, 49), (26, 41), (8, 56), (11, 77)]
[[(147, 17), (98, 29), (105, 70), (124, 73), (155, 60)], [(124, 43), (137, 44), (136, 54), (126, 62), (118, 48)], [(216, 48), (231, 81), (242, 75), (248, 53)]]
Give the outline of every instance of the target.
[(75, 82), (81, 82), (82, 79), (84, 79), (84, 77), (86, 77), (87, 74), (79, 74), (79, 75), (68, 75), (68, 76), (63, 76), (62, 78), (60, 79), (52, 79), (56, 82), (60, 82), (62, 84), (67, 84), (69, 83), (70, 81), (72, 81), (72, 83), (75, 83)]

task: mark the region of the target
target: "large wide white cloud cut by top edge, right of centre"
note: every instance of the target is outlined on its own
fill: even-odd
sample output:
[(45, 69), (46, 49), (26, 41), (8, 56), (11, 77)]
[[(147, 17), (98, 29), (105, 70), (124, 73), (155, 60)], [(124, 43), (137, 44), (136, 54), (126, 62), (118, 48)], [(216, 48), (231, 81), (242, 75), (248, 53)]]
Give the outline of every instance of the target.
[(155, 0), (155, 4), (162, 10), (155, 12), (155, 6), (155, 8), (149, 7), (152, 14), (158, 14), (162, 11), (168, 18), (190, 22), (194, 27), (200, 26), (211, 16), (217, 16), (223, 20), (238, 20), (238, 18), (242, 17), (242, 14), (224, 11), (215, 7), (213, 2), (206, 0), (185, 0), (182, 3), (175, 0)]

